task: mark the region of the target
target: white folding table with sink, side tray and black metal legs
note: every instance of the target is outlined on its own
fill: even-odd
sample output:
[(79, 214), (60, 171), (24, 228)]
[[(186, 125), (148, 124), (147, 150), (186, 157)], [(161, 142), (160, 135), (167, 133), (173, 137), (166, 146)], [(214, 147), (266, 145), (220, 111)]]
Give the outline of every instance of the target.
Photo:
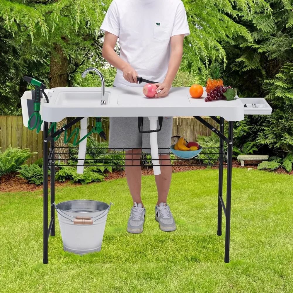
[[(156, 122), (158, 117), (164, 116), (193, 116), (220, 138), (219, 149), (214, 150), (218, 155), (217, 163), (209, 159), (210, 151), (203, 149), (201, 154), (206, 154), (206, 159), (194, 158), (190, 161), (191, 165), (218, 165), (219, 166), (219, 189), (218, 189), (218, 225), (217, 235), (222, 235), (222, 210), (226, 217), (225, 232), (225, 263), (229, 263), (229, 244), (230, 244), (230, 214), (231, 214), (231, 178), (232, 178), (232, 149), (233, 149), (233, 122), (244, 119), (245, 114), (271, 114), (272, 108), (263, 98), (236, 98), (235, 100), (216, 100), (205, 102), (206, 92), (202, 98), (191, 98), (188, 87), (171, 88), (170, 93), (165, 98), (146, 98), (142, 94), (142, 88), (105, 88), (104, 98), (105, 105), (100, 103), (101, 88), (52, 88), (47, 90), (49, 103), (42, 104), (43, 136), (44, 136), (44, 196), (43, 196), (43, 263), (48, 263), (48, 240), (50, 235), (55, 235), (55, 189), (54, 181), (55, 166), (60, 166), (58, 156), (64, 154), (59, 147), (55, 146), (54, 137), (71, 127), (75, 122), (81, 121), (81, 135), (87, 133), (87, 117), (154, 117)], [(209, 116), (219, 124), (219, 129), (210, 125), (200, 116)], [(48, 133), (50, 122), (58, 122), (66, 117), (77, 117), (73, 122), (65, 125), (60, 130), (52, 130)], [(220, 118), (218, 118), (220, 117)], [(224, 135), (224, 121), (229, 124), (228, 137)], [(84, 126), (83, 126), (84, 125)], [(154, 129), (152, 129), (154, 130)], [(83, 133), (83, 134), (82, 134)], [(152, 132), (154, 133), (154, 132)], [(228, 145), (227, 155), (224, 152), (224, 143)], [(154, 144), (156, 147), (156, 144)], [(85, 159), (85, 143), (79, 146), (79, 157), (77, 162), (77, 173), (82, 173), (84, 166), (95, 166), (97, 163), (104, 163), (110, 166), (108, 159), (101, 160)], [(49, 151), (50, 149), (50, 151)], [(68, 148), (69, 149), (69, 148)], [(83, 149), (81, 151), (81, 149)], [(119, 156), (116, 151), (124, 151), (124, 149), (114, 149), (114, 151), (105, 151), (107, 158), (109, 156)], [(153, 159), (151, 150), (151, 155)], [(158, 148), (157, 155), (161, 149)], [(66, 153), (66, 152), (65, 152)], [(67, 152), (67, 154), (69, 151)], [(121, 155), (121, 166), (124, 161)], [(158, 162), (158, 157), (149, 163), (154, 166), (154, 162)], [(183, 163), (187, 165), (186, 160), (170, 159), (170, 165), (173, 163)], [(196, 163), (195, 163), (196, 162)], [(62, 166), (67, 165), (66, 161)], [(227, 165), (227, 191), (226, 204), (223, 200), (223, 166)], [(74, 164), (76, 166), (76, 163)], [(137, 166), (137, 164), (136, 164)], [(51, 169), (51, 215), (48, 227), (48, 167)]]

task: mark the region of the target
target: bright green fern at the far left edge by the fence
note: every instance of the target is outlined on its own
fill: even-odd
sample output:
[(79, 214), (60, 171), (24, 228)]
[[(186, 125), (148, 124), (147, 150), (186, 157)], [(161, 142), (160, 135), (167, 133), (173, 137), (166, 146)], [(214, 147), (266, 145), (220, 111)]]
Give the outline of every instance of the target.
[(0, 178), (11, 177), (33, 154), (36, 153), (30, 149), (12, 148), (11, 145), (4, 152), (0, 150)]

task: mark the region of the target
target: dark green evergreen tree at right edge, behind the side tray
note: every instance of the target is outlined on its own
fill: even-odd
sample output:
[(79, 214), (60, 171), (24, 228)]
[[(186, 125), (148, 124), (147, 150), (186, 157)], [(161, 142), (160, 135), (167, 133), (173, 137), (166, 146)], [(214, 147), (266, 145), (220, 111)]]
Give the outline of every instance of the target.
[[(240, 96), (265, 97), (273, 108), (272, 115), (248, 115), (237, 122), (236, 141), (257, 141), (260, 150), (280, 156), (292, 151), (292, 1), (268, 1), (271, 16), (255, 13), (250, 20), (239, 20), (250, 32), (252, 42), (235, 39), (223, 44), (227, 52), (224, 81), (237, 86)], [(258, 126), (256, 126), (258, 125)]]

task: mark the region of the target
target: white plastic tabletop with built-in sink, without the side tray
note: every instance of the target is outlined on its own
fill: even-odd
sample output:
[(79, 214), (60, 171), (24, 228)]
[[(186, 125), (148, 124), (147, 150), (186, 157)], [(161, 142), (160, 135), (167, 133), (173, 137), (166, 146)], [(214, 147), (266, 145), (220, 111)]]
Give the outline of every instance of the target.
[(221, 116), (227, 121), (244, 119), (243, 103), (205, 102), (191, 98), (189, 87), (171, 88), (165, 98), (146, 98), (142, 88), (105, 88), (107, 105), (100, 105), (101, 88), (52, 88), (49, 103), (44, 103), (42, 119), (58, 122), (65, 117), (137, 117), (137, 116)]

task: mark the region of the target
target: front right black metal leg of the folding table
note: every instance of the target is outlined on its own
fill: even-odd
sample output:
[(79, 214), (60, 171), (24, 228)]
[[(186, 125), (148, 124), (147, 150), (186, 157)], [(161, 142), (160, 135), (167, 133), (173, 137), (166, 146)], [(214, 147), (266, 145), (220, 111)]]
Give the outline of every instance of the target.
[(233, 122), (229, 121), (227, 153), (227, 199), (226, 199), (226, 234), (225, 234), (225, 263), (230, 262), (230, 215), (231, 215), (231, 181), (232, 181), (232, 150), (233, 150)]

